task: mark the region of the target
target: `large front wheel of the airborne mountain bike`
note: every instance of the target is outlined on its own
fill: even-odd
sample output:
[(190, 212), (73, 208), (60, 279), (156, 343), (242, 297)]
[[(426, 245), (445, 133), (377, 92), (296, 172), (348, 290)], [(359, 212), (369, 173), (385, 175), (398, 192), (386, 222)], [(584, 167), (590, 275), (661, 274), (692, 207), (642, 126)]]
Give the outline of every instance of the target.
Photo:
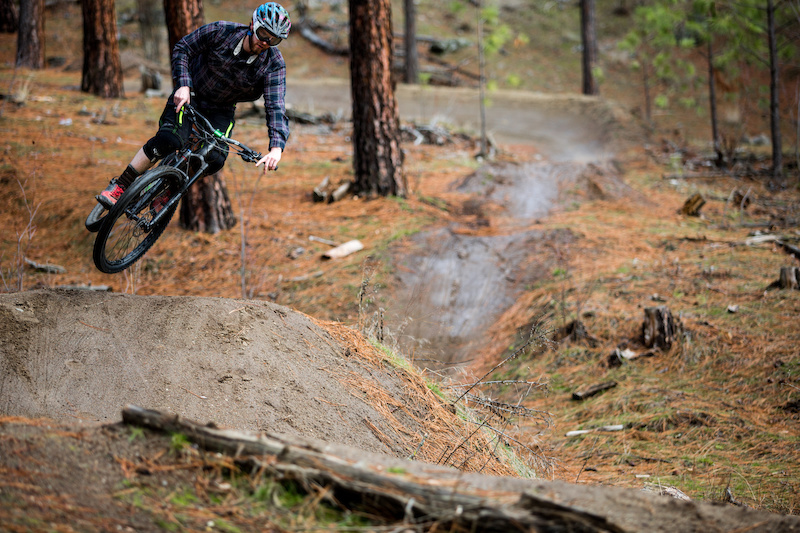
[(121, 272), (138, 261), (158, 240), (178, 204), (153, 224), (158, 214), (154, 200), (172, 198), (183, 184), (183, 174), (161, 166), (146, 172), (128, 187), (103, 219), (94, 242), (94, 264), (101, 272)]

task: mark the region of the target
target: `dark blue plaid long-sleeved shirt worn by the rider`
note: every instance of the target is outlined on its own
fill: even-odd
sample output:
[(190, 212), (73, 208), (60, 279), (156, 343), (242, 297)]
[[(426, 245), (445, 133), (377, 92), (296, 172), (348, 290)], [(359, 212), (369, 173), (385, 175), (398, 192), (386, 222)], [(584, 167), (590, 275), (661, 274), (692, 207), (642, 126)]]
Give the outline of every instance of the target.
[(234, 55), (236, 45), (247, 35), (248, 26), (234, 22), (212, 22), (178, 41), (172, 52), (175, 87), (189, 87), (204, 107), (235, 106), (264, 97), (269, 147), (286, 146), (286, 63), (280, 50), (268, 48), (252, 63), (248, 55)]

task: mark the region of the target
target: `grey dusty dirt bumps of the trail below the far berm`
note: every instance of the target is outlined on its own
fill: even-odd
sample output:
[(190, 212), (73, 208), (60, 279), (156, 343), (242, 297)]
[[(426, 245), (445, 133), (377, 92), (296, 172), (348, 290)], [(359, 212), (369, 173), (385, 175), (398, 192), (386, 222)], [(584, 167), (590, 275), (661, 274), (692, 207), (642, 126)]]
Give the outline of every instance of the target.
[[(590, 123), (583, 129), (597, 130)], [(401, 324), (406, 353), (447, 365), (470, 361), (486, 329), (554, 268), (553, 250), (574, 236), (538, 229), (536, 220), (561, 206), (571, 188), (585, 187), (589, 167), (538, 159), (485, 165), (454, 182), (452, 189), (466, 195), (461, 221), (414, 235), (395, 254), (398, 298), (387, 316)]]

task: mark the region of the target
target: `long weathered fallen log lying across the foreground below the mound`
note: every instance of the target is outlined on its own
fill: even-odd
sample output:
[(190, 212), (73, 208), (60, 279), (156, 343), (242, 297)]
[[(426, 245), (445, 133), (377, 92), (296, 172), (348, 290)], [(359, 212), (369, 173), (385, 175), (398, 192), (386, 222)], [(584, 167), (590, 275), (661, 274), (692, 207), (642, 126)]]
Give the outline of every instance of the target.
[[(554, 531), (565, 530), (623, 533), (623, 529), (604, 517), (570, 508), (533, 493), (523, 493), (514, 505), (493, 501), (486, 491), (466, 491), (459, 480), (442, 483), (406, 473), (402, 467), (367, 461), (347, 461), (298, 439), (268, 434), (252, 434), (202, 426), (178, 415), (160, 413), (137, 406), (122, 411), (126, 424), (169, 434), (182, 434), (203, 449), (232, 455), (251, 472), (269, 468), (306, 486), (329, 487), (336, 502), (372, 513), (415, 523), (443, 523), (475, 531)], [(251, 456), (245, 460), (245, 456)], [(275, 460), (258, 457), (270, 456)], [(409, 463), (398, 463), (408, 465)], [(431, 472), (435, 469), (428, 465)], [(443, 468), (443, 467), (442, 467)], [(450, 470), (450, 469), (446, 469)], [(444, 530), (451, 530), (447, 526)]]

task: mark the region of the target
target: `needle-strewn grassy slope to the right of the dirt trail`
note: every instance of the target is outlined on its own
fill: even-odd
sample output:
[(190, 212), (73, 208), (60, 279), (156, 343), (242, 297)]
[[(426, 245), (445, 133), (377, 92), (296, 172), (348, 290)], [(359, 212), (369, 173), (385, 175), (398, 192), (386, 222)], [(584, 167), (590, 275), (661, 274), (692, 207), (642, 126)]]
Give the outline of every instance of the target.
[[(555, 327), (579, 319), (594, 338), (532, 352), (507, 374), (550, 378), (554, 394), (529, 405), (556, 421), (556, 477), (630, 487), (655, 480), (693, 498), (800, 512), (800, 417), (792, 407), (800, 396), (800, 292), (769, 288), (779, 268), (797, 260), (771, 243), (745, 244), (748, 224), (764, 220), (778, 224), (765, 230), (796, 242), (798, 192), (771, 192), (755, 177), (673, 184), (661, 179), (660, 164), (638, 161), (624, 178), (641, 196), (581, 200), (545, 223), (581, 238), (558, 250), (552, 278), (498, 321), (497, 348), (488, 353), (503, 353), (541, 313)], [(758, 200), (741, 212), (725, 203), (733, 188), (750, 188)], [(709, 199), (703, 216), (677, 214), (695, 190)], [(617, 348), (648, 351), (643, 308), (656, 305), (679, 317), (680, 342), (609, 365)], [(570, 399), (609, 380), (617, 386), (599, 396)], [(624, 429), (565, 436), (612, 424)]]

